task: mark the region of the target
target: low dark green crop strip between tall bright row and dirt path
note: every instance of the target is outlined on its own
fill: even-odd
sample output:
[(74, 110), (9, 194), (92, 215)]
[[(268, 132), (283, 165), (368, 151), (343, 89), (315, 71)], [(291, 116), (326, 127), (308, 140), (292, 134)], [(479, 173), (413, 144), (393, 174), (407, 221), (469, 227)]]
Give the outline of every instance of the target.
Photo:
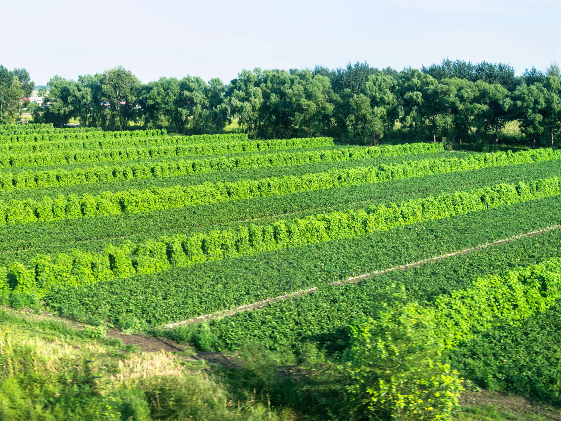
[[(150, 324), (180, 321), (555, 225), (560, 222), (559, 216), (550, 209), (557, 205), (557, 199), (538, 200), (370, 235), (279, 249), (255, 258), (214, 260), (190, 268), (172, 266), (160, 275), (137, 275), (104, 282), (99, 287), (61, 287), (44, 299), (62, 314), (82, 309), (83, 313), (113, 320), (130, 314)], [(346, 258), (342, 259), (342, 255)], [(144, 294), (139, 295), (139, 290)], [(360, 310), (351, 308), (348, 314), (357, 311)], [(240, 317), (250, 314), (242, 313)], [(292, 321), (293, 314), (287, 312), (286, 326), (293, 326), (288, 337), (300, 331), (295, 327), (300, 325), (297, 318)], [(317, 321), (329, 320), (331, 315), (329, 306), (316, 312)], [(261, 330), (261, 321), (256, 319), (255, 323), (249, 330), (227, 328), (232, 332), (233, 344), (239, 344), (240, 338), (242, 342), (247, 340), (249, 332), (255, 332), (256, 338), (268, 346), (284, 341), (286, 333), (272, 340)], [(310, 326), (318, 325), (314, 322)], [(321, 326), (328, 328), (329, 324), (322, 322)], [(320, 332), (324, 333), (321, 326)]]

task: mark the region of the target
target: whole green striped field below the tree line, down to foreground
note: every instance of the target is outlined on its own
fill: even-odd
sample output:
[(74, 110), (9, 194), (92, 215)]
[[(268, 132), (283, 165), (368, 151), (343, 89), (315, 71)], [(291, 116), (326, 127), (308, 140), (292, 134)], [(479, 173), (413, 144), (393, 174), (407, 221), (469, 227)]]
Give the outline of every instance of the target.
[[(203, 399), (195, 419), (471, 419), (477, 411), (453, 411), (480, 387), (561, 405), (560, 170), (559, 149), (0, 130), (0, 300), (79, 327), (36, 329), (55, 332), (47, 342), (57, 329), (90, 340), (87, 358), (100, 355), (95, 346), (112, 349), (102, 358), (114, 376), (130, 335), (173, 341), (185, 358), (186, 349), (239, 354), (242, 370), (235, 361), (219, 369), (224, 390), (204, 376), (183, 380), (183, 391), (203, 390), (229, 414), (205, 413)], [(31, 338), (35, 325), (9, 314), (2, 323)], [(12, 335), (2, 332), (0, 347)], [(4, 373), (18, 372), (24, 355), (10, 346)], [(152, 364), (147, 355), (135, 364)], [(158, 355), (162, 373), (181, 372), (171, 354)], [(47, 365), (38, 372), (48, 383)], [(133, 365), (119, 370), (134, 378)], [(433, 404), (380, 403), (390, 400), (380, 379)], [(158, 393), (180, 399), (172, 385), (146, 384), (134, 387), (148, 397), (99, 393), (139, 420), (164, 413)], [(10, 394), (2, 387), (0, 400)], [(106, 410), (107, 399), (91, 405)], [(234, 417), (232, 399), (246, 402), (245, 418)]]

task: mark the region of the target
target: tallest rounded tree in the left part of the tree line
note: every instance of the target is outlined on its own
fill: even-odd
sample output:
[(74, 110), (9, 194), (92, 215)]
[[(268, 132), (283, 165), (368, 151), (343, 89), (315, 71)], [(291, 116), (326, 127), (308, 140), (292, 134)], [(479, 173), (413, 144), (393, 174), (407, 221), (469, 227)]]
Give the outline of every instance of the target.
[(113, 126), (123, 130), (123, 123), (135, 118), (137, 91), (140, 81), (123, 66), (103, 72), (101, 88), (102, 100), (111, 111)]

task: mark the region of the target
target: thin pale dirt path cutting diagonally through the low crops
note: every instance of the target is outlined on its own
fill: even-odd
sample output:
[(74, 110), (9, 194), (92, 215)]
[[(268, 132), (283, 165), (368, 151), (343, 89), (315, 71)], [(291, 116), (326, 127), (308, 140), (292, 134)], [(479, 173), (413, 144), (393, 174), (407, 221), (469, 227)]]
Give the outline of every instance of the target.
[[(401, 265), (401, 266), (394, 266), (392, 268), (383, 269), (381, 271), (375, 271), (375, 272), (372, 272), (372, 273), (365, 273), (365, 274), (362, 274), (362, 275), (359, 275), (359, 276), (348, 278), (347, 280), (344, 280), (344, 281), (331, 282), (329, 285), (345, 285), (346, 283), (360, 282), (360, 281), (362, 281), (366, 278), (374, 277), (374, 276), (382, 274), (382, 273), (386, 273), (386, 272), (390, 272), (390, 271), (396, 271), (397, 269), (405, 270), (409, 267), (421, 266), (422, 264), (425, 264), (425, 263), (436, 262), (436, 260), (444, 260), (444, 259), (447, 259), (449, 257), (471, 253), (472, 251), (479, 251), (479, 250), (485, 249), (489, 246), (505, 244), (507, 242), (519, 240), (521, 238), (531, 237), (533, 235), (544, 234), (545, 232), (555, 230), (559, 227), (560, 227), (559, 225), (555, 225), (553, 227), (545, 228), (544, 230), (528, 232), (528, 234), (517, 235), (517, 236), (511, 237), (511, 238), (508, 238), (508, 239), (491, 242), (489, 244), (483, 244), (483, 245), (477, 246), (475, 248), (465, 249), (465, 250), (461, 250), (461, 251), (455, 251), (454, 253), (444, 254), (442, 256), (437, 256), (437, 257), (433, 257), (433, 258), (430, 258), (430, 259), (419, 260), (419, 262), (407, 263), (407, 264), (404, 264), (404, 265)], [(166, 324), (165, 327), (172, 328), (172, 327), (175, 327), (175, 326), (181, 326), (182, 324), (201, 323), (201, 322), (204, 322), (204, 321), (207, 321), (207, 320), (210, 320), (210, 319), (227, 317), (227, 316), (235, 315), (236, 313), (242, 313), (242, 312), (247, 312), (248, 310), (254, 310), (254, 309), (262, 308), (267, 304), (278, 303), (278, 301), (286, 300), (288, 298), (293, 299), (293, 298), (296, 298), (297, 296), (300, 296), (300, 295), (311, 294), (312, 292), (316, 292), (316, 291), (318, 291), (318, 287), (313, 287), (313, 288), (310, 288), (310, 289), (307, 289), (307, 290), (299, 290), (299, 291), (291, 292), (289, 294), (280, 295), (280, 296), (275, 297), (275, 298), (270, 298), (270, 299), (263, 300), (263, 301), (257, 301), (256, 303), (241, 305), (241, 306), (239, 306), (237, 308), (234, 308), (234, 309), (222, 310), (221, 312), (217, 312), (217, 313), (204, 314), (204, 315), (200, 315), (198, 317), (193, 317), (191, 319), (183, 320), (181, 322), (169, 323), (169, 324)]]

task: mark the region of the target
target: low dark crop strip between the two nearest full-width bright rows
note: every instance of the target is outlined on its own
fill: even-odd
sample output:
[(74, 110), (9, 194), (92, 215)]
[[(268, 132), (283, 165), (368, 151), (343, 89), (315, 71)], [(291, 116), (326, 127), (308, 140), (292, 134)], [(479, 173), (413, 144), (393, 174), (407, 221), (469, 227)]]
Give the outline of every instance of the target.
[[(73, 248), (99, 251), (104, 250), (108, 242), (119, 244), (123, 239), (140, 244), (145, 240), (158, 239), (162, 235), (191, 236), (197, 232), (208, 232), (216, 228), (226, 230), (238, 225), (247, 226), (250, 223), (269, 225), (277, 219), (302, 219), (318, 213), (359, 211), (373, 203), (399, 203), (430, 195), (453, 193), (457, 190), (477, 189), (491, 184), (516, 184), (518, 181), (548, 179), (557, 177), (559, 171), (561, 171), (560, 161), (544, 161), (518, 166), (483, 168), (476, 172), (463, 171), (379, 184), (339, 187), (330, 190), (329, 194), (325, 194), (324, 190), (318, 190), (289, 196), (260, 197), (244, 200), (243, 206), (239, 202), (195, 205), (151, 212), (149, 218), (143, 213), (122, 213), (95, 218), (2, 225), (0, 226), (0, 267), (8, 266), (15, 260), (29, 265), (36, 253), (70, 254)], [(216, 175), (217, 179), (218, 175)], [(204, 182), (204, 178), (201, 178), (200, 182)], [(123, 184), (127, 185), (127, 183)], [(60, 190), (63, 194), (76, 191), (80, 196), (87, 193), (86, 187), (89, 186), (64, 187)], [(19, 193), (27, 194), (27, 192), (24, 190)], [(42, 200), (42, 191), (32, 193), (35, 194), (33, 198), (37, 202)], [(12, 193), (9, 195), (11, 196)], [(53, 195), (54, 197), (56, 196)], [(535, 202), (534, 200), (528, 203)], [(506, 212), (511, 207), (503, 209)], [(530, 217), (528, 222), (533, 220), (534, 216)]]

